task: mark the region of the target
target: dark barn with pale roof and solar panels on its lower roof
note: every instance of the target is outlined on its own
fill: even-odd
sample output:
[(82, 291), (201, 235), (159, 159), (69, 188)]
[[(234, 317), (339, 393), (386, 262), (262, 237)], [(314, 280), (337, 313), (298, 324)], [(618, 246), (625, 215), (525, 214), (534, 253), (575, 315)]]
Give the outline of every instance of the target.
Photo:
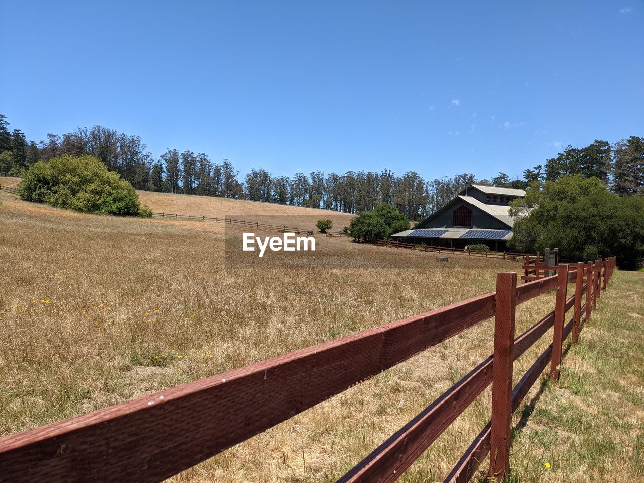
[(491, 250), (502, 251), (512, 238), (514, 223), (507, 213), (508, 204), (524, 196), (522, 189), (472, 184), (413, 230), (396, 233), (392, 238), (397, 242), (454, 248), (485, 243)]

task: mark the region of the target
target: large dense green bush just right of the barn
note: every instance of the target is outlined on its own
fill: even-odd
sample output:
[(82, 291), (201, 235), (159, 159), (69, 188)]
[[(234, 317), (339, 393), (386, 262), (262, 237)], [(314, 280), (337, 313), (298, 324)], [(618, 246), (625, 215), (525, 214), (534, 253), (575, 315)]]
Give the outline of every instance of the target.
[(644, 196), (618, 196), (598, 178), (561, 176), (532, 184), (511, 203), (516, 220), (508, 247), (524, 253), (559, 247), (562, 258), (616, 256), (621, 269), (644, 263)]

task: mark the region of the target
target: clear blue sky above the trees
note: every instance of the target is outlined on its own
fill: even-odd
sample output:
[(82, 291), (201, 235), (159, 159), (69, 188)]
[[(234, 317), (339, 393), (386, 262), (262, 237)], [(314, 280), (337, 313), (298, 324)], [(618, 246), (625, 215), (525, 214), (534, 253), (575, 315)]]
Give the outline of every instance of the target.
[(644, 2), (0, 0), (0, 113), (245, 173), (520, 176), (644, 135)]

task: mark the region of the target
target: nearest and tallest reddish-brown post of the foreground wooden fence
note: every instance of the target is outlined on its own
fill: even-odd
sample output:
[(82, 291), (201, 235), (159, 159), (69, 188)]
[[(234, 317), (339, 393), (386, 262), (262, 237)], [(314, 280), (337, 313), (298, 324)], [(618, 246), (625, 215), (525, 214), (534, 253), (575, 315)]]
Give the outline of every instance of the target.
[(514, 359), (516, 272), (497, 273), (490, 422), (489, 474), (497, 481), (510, 469), (512, 361)]

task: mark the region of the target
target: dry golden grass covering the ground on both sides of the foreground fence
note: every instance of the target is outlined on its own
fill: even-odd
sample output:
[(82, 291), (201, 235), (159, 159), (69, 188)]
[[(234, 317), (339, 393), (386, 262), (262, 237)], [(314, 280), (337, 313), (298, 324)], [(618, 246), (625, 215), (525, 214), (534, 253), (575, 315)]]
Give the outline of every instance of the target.
[[(288, 208), (140, 196), (155, 211), (207, 216), (252, 219)], [(345, 238), (320, 238), (323, 254), (336, 258), (330, 268), (231, 269), (216, 223), (76, 214), (1, 192), (0, 202), (0, 435), (491, 292), (497, 271), (518, 269), (460, 255), (436, 263), (430, 253)], [(320, 213), (327, 212), (285, 215), (314, 225)], [(346, 215), (328, 218), (348, 224)], [(347, 268), (356, 260), (358, 268)], [(379, 260), (406, 268), (360, 268)], [(516, 432), (511, 462), (521, 481), (626, 482), (644, 474), (644, 274), (617, 272), (613, 280), (569, 350), (562, 382), (545, 384)], [(553, 307), (553, 294), (521, 305), (517, 331)], [(492, 329), (492, 321), (471, 328), (171, 480), (334, 481), (489, 355)], [(548, 339), (519, 359), (516, 381)], [(442, 481), (487, 422), (489, 398), (487, 390), (401, 481)], [(150, 435), (151, 444), (170, 437)]]

